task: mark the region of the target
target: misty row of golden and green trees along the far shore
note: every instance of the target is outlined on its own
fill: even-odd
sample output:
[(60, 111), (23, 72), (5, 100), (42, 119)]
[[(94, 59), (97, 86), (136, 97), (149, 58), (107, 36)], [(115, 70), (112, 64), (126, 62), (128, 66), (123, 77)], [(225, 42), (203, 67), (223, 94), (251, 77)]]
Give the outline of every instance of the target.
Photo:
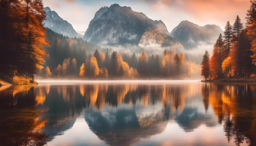
[[(52, 72), (51, 72), (52, 69)], [(183, 53), (179, 55), (173, 50), (164, 50), (163, 55), (147, 55), (144, 51), (136, 53), (111, 54), (99, 52), (97, 49), (77, 64), (76, 58), (65, 58), (62, 64), (53, 68), (46, 66), (40, 75), (47, 78), (169, 78), (177, 79), (196, 75), (200, 66), (188, 62)], [(198, 72), (197, 72), (198, 71)]]

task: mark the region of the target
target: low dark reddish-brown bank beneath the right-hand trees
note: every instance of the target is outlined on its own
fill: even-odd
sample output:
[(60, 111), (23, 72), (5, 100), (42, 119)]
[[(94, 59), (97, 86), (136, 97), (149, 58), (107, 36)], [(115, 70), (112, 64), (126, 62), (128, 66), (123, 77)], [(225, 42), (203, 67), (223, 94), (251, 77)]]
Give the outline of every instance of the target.
[(218, 80), (203, 80), (202, 82), (256, 82), (256, 77), (248, 77), (248, 78), (232, 77), (232, 78), (225, 78), (225, 79), (218, 79)]

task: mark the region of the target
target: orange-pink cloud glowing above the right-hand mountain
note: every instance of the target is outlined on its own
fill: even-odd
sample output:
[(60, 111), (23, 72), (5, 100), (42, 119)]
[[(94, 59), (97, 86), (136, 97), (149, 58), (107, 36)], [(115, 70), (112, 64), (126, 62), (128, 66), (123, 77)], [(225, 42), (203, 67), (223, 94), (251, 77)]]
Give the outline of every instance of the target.
[(236, 15), (245, 17), (249, 9), (249, 0), (151, 0), (151, 7), (168, 7), (181, 9), (200, 20), (215, 19), (227, 21)]

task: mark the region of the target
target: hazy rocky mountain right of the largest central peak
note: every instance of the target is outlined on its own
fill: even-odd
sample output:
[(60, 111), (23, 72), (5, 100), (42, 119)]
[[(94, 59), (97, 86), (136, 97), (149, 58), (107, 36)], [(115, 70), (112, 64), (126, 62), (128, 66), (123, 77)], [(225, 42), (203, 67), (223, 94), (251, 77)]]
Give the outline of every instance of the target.
[(217, 25), (205, 25), (200, 27), (197, 24), (184, 20), (171, 31), (171, 36), (180, 42), (185, 49), (193, 49), (201, 44), (213, 44), (222, 29)]

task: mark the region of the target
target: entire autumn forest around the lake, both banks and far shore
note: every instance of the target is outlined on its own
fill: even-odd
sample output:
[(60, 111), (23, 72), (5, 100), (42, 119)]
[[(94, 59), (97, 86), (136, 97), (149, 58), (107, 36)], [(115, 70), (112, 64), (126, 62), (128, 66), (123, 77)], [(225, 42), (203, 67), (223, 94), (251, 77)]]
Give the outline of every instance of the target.
[[(251, 1), (246, 24), (237, 15), (228, 21), (213, 47), (205, 51), (205, 80), (248, 78), (256, 70), (256, 3)], [(68, 38), (45, 28), (42, 0), (2, 0), (0, 12), (0, 77), (27, 83), (51, 79), (191, 79), (200, 65), (173, 50), (160, 54), (127, 54), (101, 48), (81, 38)], [(94, 53), (93, 53), (94, 52)]]

